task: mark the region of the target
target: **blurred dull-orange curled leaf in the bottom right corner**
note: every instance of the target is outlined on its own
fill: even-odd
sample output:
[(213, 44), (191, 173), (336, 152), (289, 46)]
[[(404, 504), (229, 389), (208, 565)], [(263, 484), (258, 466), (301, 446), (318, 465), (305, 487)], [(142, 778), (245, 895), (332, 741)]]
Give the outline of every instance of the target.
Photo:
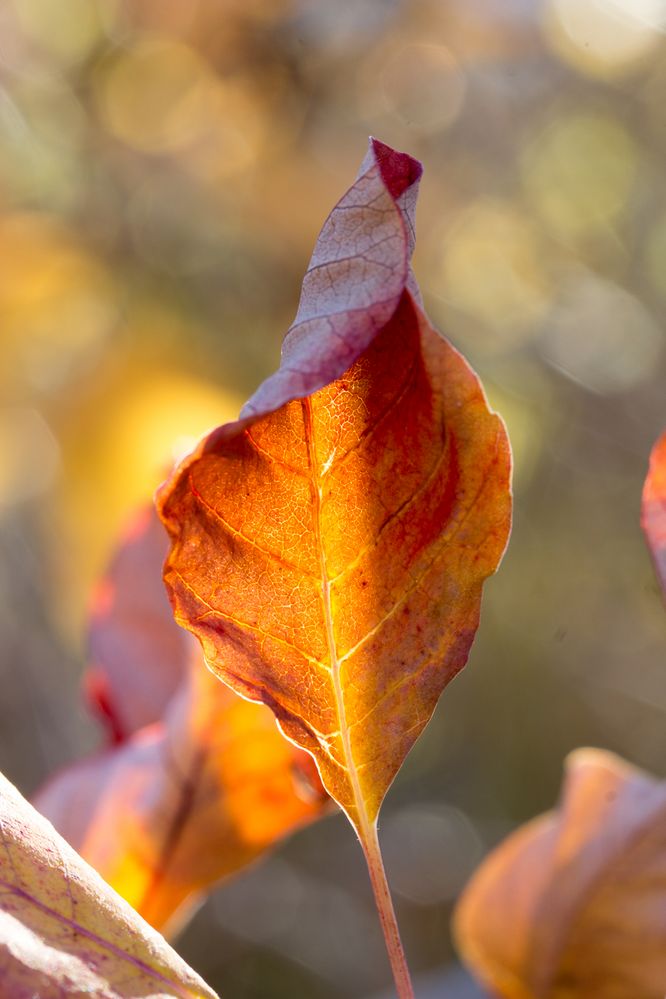
[(601, 750), (567, 760), (560, 805), (481, 865), (454, 928), (505, 999), (663, 999), (666, 783)]

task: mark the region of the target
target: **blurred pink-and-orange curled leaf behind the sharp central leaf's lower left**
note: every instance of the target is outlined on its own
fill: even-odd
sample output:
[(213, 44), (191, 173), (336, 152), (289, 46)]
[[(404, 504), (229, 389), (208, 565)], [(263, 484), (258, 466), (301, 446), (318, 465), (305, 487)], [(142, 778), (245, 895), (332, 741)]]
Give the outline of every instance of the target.
[[(152, 721), (146, 693), (161, 704), (180, 675), (176, 693), (159, 721), (56, 775), (35, 803), (145, 919), (173, 932), (216, 881), (319, 817), (327, 796), (310, 757), (285, 742), (270, 711), (205, 668), (168, 603), (160, 620), (165, 550), (154, 514), (137, 518), (98, 588), (110, 596), (96, 603), (94, 675), (113, 734), (140, 714)], [(146, 613), (145, 635), (133, 607)], [(159, 655), (169, 643), (162, 678)]]

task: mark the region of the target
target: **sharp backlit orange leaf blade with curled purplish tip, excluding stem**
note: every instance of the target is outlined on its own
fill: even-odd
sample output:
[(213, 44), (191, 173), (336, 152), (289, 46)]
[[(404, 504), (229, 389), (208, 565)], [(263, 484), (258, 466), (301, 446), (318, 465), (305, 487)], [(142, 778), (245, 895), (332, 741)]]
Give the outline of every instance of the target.
[(420, 173), (371, 141), (280, 369), (158, 501), (177, 620), (313, 754), (364, 842), (467, 659), (509, 531), (504, 426), (409, 268)]

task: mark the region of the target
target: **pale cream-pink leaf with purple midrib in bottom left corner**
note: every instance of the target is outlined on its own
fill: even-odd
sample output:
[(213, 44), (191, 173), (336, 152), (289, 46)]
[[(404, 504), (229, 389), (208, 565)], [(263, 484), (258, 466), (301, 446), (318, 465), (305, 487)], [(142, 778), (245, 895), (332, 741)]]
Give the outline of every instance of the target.
[(0, 835), (3, 996), (215, 999), (2, 775)]

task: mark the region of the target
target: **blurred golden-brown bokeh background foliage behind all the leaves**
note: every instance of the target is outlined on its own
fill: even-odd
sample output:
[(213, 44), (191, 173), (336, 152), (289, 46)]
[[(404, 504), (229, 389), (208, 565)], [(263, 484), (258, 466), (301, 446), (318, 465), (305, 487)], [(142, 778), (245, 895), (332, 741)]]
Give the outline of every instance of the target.
[[(92, 745), (71, 712), (90, 584), (174, 453), (276, 367), (369, 133), (424, 162), (415, 270), (516, 458), (470, 667), (386, 802), (415, 971), (451, 959), (453, 897), (550, 805), (569, 749), (663, 772), (665, 624), (638, 512), (664, 424), (665, 20), (662, 0), (2, 6), (12, 780), (30, 791)], [(384, 966), (368, 892), (331, 820), (216, 896), (183, 952), (244, 999), (362, 996)]]

